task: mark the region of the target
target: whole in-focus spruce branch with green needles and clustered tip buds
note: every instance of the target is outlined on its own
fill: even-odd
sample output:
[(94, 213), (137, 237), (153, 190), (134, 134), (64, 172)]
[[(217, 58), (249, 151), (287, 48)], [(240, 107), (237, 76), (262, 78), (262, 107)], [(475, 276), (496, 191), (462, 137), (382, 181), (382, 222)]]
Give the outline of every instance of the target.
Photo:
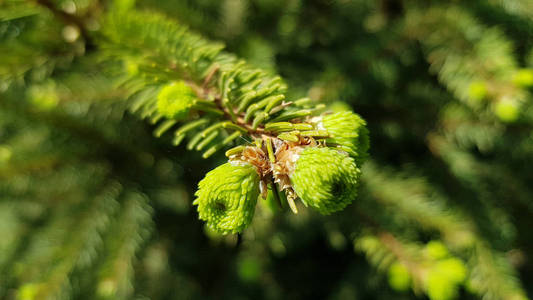
[[(188, 139), (187, 149), (203, 151), (204, 158), (237, 145), (226, 151), (229, 163), (200, 182), (194, 204), (208, 226), (241, 232), (251, 223), (258, 193), (267, 198), (273, 185), (294, 213), (297, 198), (323, 214), (353, 201), (369, 147), (358, 115), (321, 114), (324, 105), (286, 99), (279, 76), (157, 14), (111, 12), (103, 28), (100, 48), (123, 61), (121, 87), (131, 93), (131, 111), (157, 125), (155, 136), (174, 132), (174, 145)], [(241, 136), (253, 142), (239, 145)], [(320, 148), (316, 155), (314, 148)], [(331, 169), (326, 177), (321, 164)], [(244, 165), (253, 174), (231, 178)], [(239, 182), (253, 188), (239, 190)]]

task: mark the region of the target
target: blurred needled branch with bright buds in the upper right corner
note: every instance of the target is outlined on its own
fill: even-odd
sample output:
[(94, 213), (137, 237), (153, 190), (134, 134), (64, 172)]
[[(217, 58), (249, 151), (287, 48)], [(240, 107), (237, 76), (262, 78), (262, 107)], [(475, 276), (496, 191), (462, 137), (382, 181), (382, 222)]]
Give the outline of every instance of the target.
[(409, 34), (422, 43), (432, 70), (457, 98), (473, 107), (487, 98), (502, 121), (518, 119), (519, 107), (527, 99), (527, 85), (521, 83), (527, 82), (527, 75), (518, 68), (513, 44), (500, 30), (480, 24), (459, 6), (409, 13)]

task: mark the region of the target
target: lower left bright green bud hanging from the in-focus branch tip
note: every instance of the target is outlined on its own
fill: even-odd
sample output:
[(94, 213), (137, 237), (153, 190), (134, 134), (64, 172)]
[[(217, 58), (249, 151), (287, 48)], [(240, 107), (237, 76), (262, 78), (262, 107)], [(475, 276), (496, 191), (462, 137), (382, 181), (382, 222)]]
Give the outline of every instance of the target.
[(200, 219), (222, 234), (243, 231), (251, 222), (259, 196), (259, 174), (249, 163), (225, 163), (198, 184), (194, 205)]

